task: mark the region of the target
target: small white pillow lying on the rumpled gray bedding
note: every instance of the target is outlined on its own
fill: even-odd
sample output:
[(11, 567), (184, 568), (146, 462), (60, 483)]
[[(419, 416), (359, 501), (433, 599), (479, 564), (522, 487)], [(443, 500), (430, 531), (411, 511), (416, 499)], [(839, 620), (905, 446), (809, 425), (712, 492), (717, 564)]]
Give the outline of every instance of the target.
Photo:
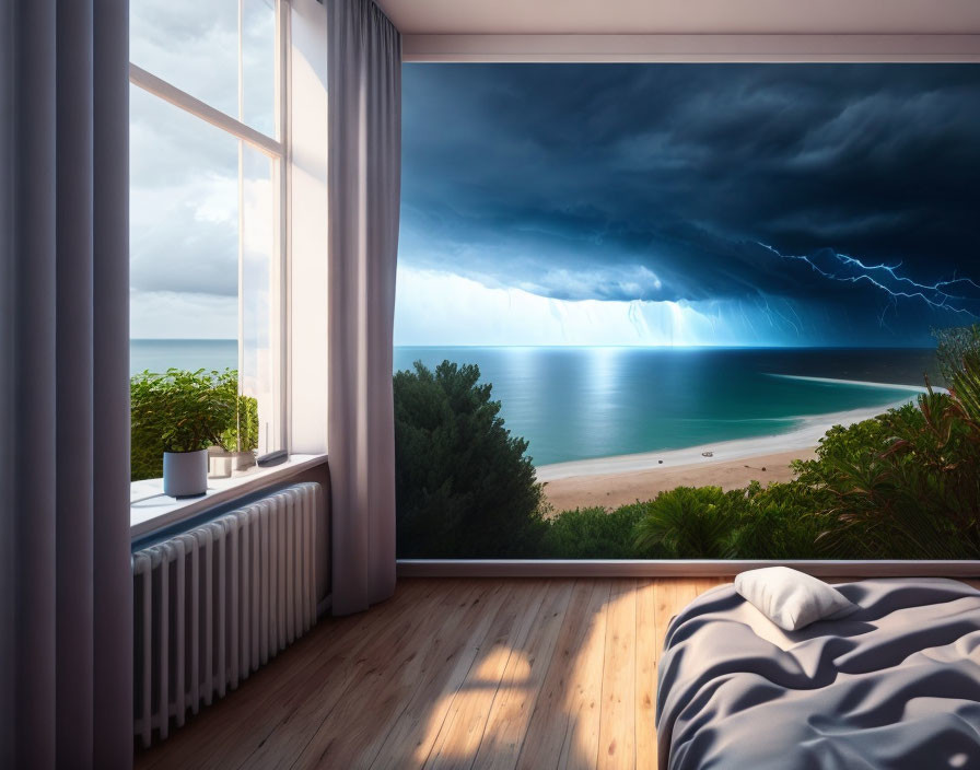
[(784, 631), (858, 609), (837, 588), (789, 567), (766, 567), (735, 576), (735, 591)]

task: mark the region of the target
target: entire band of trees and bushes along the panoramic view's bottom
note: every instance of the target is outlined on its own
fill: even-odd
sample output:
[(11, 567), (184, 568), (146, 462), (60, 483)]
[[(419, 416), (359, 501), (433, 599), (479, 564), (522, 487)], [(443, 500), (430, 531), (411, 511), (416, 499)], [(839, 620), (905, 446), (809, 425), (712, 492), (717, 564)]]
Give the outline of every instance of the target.
[(980, 326), (936, 334), (948, 392), (835, 425), (793, 480), (547, 511), (479, 370), (395, 375), (398, 552), (544, 559), (980, 558)]

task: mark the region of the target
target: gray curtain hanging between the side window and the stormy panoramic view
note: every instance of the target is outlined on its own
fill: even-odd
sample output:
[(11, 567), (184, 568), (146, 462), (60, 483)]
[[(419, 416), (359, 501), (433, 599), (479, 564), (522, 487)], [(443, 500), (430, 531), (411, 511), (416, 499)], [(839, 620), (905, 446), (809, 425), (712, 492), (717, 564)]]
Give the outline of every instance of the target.
[(327, 34), (331, 593), (347, 615), (395, 590), (401, 37), (371, 0), (327, 0)]

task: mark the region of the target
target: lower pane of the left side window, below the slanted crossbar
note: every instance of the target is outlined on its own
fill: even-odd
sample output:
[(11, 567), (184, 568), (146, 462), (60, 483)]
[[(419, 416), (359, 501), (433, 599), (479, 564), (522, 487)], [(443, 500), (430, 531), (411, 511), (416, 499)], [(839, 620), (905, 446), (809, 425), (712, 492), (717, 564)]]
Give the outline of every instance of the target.
[(138, 86), (130, 153), (131, 372), (237, 369), (281, 448), (278, 161)]

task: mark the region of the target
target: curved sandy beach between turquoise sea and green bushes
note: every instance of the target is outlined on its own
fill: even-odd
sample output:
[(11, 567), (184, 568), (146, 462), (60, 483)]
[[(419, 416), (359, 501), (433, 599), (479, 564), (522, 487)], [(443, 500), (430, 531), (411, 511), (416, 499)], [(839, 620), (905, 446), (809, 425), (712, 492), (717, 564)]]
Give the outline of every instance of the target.
[[(812, 459), (828, 429), (870, 419), (901, 404), (905, 401), (805, 417), (795, 430), (774, 435), (542, 465), (537, 468), (537, 476), (545, 482), (545, 494), (555, 511), (592, 505), (611, 509), (650, 500), (657, 492), (680, 486), (713, 485), (727, 490), (744, 487), (752, 479), (763, 485), (789, 481), (793, 478), (790, 463)], [(711, 456), (705, 457), (705, 452)]]

